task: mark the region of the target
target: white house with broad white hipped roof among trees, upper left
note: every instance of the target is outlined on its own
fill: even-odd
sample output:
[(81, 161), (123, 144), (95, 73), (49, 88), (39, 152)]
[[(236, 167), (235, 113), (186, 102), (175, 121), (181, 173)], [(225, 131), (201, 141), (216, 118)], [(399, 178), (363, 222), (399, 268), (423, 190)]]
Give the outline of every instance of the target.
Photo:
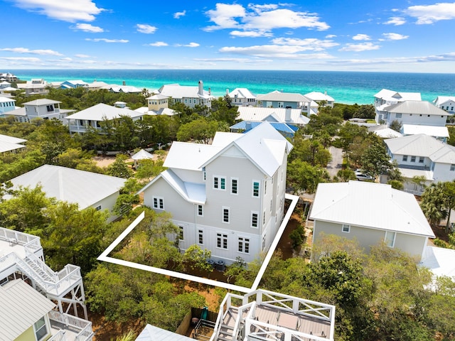
[(68, 117), (68, 127), (71, 134), (83, 134), (89, 127), (101, 129), (100, 122), (118, 119), (119, 117), (131, 117), (133, 121), (142, 119), (144, 114), (128, 108), (113, 107), (112, 105), (99, 103), (83, 109)]

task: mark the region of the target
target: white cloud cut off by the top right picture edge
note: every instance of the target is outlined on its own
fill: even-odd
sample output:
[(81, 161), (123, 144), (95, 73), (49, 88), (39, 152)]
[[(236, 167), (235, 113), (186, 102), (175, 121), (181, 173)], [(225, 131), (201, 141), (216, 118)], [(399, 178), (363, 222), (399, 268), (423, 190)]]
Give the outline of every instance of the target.
[(455, 2), (444, 2), (427, 6), (410, 6), (404, 11), (408, 16), (417, 18), (417, 24), (434, 23), (455, 18)]

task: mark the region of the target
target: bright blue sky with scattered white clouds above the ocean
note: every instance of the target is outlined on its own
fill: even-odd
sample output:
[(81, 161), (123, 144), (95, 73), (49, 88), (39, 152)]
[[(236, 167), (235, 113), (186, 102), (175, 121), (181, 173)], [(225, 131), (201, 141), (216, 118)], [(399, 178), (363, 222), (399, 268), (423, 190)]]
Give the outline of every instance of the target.
[(9, 69), (455, 72), (455, 2), (0, 0)]

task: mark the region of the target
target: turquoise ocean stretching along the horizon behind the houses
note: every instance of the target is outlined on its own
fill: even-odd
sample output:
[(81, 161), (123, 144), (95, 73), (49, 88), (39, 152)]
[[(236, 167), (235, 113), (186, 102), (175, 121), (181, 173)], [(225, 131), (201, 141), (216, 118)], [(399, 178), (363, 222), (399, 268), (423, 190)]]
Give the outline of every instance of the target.
[(455, 96), (455, 74), (278, 71), (278, 70), (6, 70), (21, 80), (43, 78), (47, 82), (65, 80), (103, 81), (108, 84), (133, 85), (156, 90), (164, 84), (198, 85), (220, 97), (226, 90), (246, 87), (253, 94), (274, 90), (306, 94), (327, 92), (335, 102), (372, 104), (381, 89), (397, 92), (420, 92), (422, 100), (432, 102), (437, 96)]

